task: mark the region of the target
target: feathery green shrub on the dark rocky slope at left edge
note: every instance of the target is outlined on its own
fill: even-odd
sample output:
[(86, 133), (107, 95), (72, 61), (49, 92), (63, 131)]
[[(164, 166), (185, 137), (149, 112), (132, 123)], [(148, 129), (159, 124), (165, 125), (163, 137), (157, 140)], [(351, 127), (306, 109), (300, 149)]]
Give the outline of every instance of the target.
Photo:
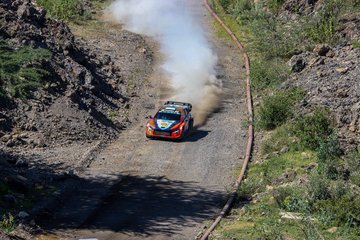
[(49, 72), (24, 66), (40, 59), (49, 60), (50, 56), (51, 53), (45, 49), (34, 49), (33, 46), (14, 49), (5, 41), (0, 40), (0, 94), (4, 97), (5, 87), (8, 87), (10, 94), (14, 97), (32, 97), (30, 91), (44, 83), (44, 74)]

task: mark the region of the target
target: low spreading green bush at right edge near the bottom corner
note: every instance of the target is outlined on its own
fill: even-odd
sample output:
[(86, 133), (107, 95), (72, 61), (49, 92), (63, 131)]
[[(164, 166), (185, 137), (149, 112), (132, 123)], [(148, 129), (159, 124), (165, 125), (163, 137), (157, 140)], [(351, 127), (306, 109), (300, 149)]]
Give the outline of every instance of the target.
[(315, 201), (313, 208), (316, 212), (325, 210), (331, 215), (336, 215), (336, 219), (342, 222), (347, 222), (352, 214), (355, 219), (360, 220), (360, 200), (349, 195)]

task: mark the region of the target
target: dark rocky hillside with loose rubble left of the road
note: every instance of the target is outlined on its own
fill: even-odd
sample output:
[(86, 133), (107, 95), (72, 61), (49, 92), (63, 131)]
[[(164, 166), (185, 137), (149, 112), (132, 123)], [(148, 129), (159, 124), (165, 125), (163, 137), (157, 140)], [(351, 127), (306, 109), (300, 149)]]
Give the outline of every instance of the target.
[[(98, 4), (86, 5), (101, 18)], [(103, 38), (75, 36), (63, 20), (46, 13), (36, 1), (0, 1), (0, 40), (15, 50), (30, 46), (51, 55), (22, 66), (48, 72), (31, 98), (15, 98), (8, 80), (1, 80), (7, 96), (0, 102), (0, 210), (11, 212), (17, 222), (19, 211), (31, 208), (23, 205), (36, 205), (77, 179), (103, 146), (138, 120), (129, 116), (139, 108), (136, 83), (152, 71), (143, 37), (112, 22), (102, 25)], [(87, 26), (80, 26), (85, 33)], [(42, 207), (32, 213), (51, 217), (53, 209)]]

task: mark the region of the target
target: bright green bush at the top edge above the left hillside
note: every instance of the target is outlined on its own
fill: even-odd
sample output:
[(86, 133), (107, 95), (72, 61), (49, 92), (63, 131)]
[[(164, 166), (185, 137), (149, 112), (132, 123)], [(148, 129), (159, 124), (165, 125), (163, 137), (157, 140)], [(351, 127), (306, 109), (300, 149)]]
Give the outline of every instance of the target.
[(82, 0), (38, 0), (37, 5), (45, 7), (50, 17), (64, 21), (91, 19), (91, 13), (84, 9)]

